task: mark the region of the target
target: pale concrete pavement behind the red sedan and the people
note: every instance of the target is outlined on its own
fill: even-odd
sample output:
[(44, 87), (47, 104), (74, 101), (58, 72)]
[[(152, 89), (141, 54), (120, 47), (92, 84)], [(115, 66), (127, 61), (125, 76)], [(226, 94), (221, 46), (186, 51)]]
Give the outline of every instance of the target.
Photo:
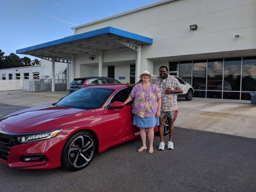
[[(0, 92), (0, 103), (33, 107), (57, 102), (67, 91)], [(178, 100), (179, 114), (175, 126), (256, 138), (256, 105), (248, 101), (193, 98)]]

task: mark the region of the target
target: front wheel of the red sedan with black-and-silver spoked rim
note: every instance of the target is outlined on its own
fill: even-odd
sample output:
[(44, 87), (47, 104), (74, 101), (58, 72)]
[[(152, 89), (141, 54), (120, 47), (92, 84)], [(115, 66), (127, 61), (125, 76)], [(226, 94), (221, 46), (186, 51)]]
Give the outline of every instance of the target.
[(69, 170), (78, 171), (92, 161), (96, 151), (95, 138), (90, 132), (73, 134), (63, 147), (61, 165)]

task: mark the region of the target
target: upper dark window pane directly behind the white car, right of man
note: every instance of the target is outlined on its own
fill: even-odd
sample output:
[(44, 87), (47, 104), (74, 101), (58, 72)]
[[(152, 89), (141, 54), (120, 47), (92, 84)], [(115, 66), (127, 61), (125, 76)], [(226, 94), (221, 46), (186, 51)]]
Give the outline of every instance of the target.
[(180, 61), (179, 77), (191, 84), (192, 60)]

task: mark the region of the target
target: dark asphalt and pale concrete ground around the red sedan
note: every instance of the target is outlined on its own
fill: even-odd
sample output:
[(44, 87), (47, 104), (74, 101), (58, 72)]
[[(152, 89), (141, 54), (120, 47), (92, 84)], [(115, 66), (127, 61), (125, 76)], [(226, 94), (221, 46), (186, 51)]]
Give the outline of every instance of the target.
[[(53, 103), (66, 92), (0, 92), (0, 117)], [(178, 101), (174, 150), (137, 153), (140, 139), (108, 149), (77, 172), (0, 164), (1, 191), (256, 191), (256, 107), (248, 102)], [(225, 133), (225, 134), (222, 134)], [(167, 137), (165, 137), (167, 141)]]

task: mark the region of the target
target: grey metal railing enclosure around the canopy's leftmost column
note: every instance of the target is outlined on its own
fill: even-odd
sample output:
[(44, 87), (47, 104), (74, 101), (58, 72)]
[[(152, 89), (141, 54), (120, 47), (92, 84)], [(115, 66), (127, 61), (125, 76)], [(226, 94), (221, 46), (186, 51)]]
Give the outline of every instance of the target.
[[(64, 91), (66, 89), (67, 81), (65, 79), (55, 79), (55, 91)], [(23, 91), (51, 91), (51, 79), (24, 79)]]

